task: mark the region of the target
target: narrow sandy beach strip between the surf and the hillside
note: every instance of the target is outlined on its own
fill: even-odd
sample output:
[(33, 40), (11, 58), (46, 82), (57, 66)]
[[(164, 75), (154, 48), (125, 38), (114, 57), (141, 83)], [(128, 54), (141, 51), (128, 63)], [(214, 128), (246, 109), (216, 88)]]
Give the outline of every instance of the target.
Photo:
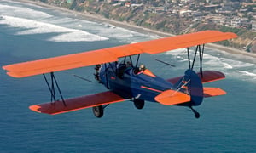
[[(12, 1), (14, 1), (14, 0), (12, 0)], [(31, 1), (31, 0), (16, 0), (15, 2), (31, 3), (31, 4), (38, 5), (38, 6), (41, 6), (41, 7), (44, 7), (44, 8), (54, 8), (54, 9), (57, 9), (57, 10), (60, 10), (60, 11), (63, 11), (63, 12), (68, 12), (68, 13), (71, 13), (71, 14), (78, 14), (84, 20), (91, 20), (91, 21), (96, 21), (96, 22), (106, 22), (106, 23), (111, 24), (113, 26), (119, 26), (119, 27), (122, 27), (122, 28), (125, 28), (125, 29), (128, 29), (128, 30), (131, 30), (131, 31), (137, 31), (137, 32), (144, 33), (144, 34), (155, 34), (155, 35), (160, 36), (160, 37), (175, 36), (175, 35), (172, 35), (170, 33), (165, 33), (165, 32), (162, 32), (162, 31), (154, 31), (154, 30), (144, 28), (144, 27), (141, 27), (141, 26), (134, 26), (134, 25), (128, 24), (126, 22), (120, 22), (120, 21), (117, 21), (117, 20), (109, 20), (109, 19), (106, 19), (106, 18), (104, 18), (100, 15), (97, 15), (97, 14), (90, 14), (90, 13), (86, 13), (86, 12), (78, 12), (78, 11), (70, 10), (70, 9), (67, 9), (67, 8), (61, 8), (61, 7), (58, 7), (58, 6), (55, 6), (55, 5), (50, 5), (48, 3), (41, 3), (41, 2), (38, 2), (38, 1)], [(246, 51), (241, 51), (241, 49), (238, 49), (238, 48), (225, 47), (225, 46), (218, 45), (218, 44), (215, 44), (215, 43), (207, 43), (206, 48), (216, 48), (219, 51), (224, 51), (224, 52), (227, 52), (227, 53), (230, 53), (230, 54), (241, 54), (241, 55), (243, 55), (243, 57), (247, 56), (249, 58), (256, 58), (256, 54), (248, 53)], [(255, 60), (250, 59), (250, 61), (256, 64)]]

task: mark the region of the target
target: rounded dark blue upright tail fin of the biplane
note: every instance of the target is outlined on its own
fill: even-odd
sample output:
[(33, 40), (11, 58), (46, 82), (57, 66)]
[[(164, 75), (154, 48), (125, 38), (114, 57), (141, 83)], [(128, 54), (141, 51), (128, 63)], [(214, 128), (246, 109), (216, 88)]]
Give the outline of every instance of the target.
[(204, 98), (201, 78), (193, 70), (185, 71), (185, 75), (174, 84), (177, 91), (190, 95), (189, 105), (201, 105)]

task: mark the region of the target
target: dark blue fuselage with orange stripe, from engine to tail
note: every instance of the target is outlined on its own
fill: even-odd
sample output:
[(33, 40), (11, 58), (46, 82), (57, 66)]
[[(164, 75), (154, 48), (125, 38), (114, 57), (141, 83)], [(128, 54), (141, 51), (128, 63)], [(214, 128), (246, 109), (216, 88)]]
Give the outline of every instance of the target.
[(155, 102), (154, 97), (172, 89), (170, 82), (155, 76), (151, 71), (137, 73), (137, 68), (118, 62), (102, 65), (100, 80), (113, 93), (125, 99), (143, 99)]

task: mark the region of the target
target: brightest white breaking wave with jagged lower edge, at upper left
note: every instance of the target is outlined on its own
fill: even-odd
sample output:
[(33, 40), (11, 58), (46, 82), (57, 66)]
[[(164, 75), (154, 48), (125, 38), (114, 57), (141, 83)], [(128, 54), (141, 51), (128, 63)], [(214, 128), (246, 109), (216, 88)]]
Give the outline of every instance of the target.
[(16, 35), (58, 33), (57, 36), (50, 37), (48, 39), (49, 41), (55, 42), (94, 42), (108, 39), (107, 37), (100, 37), (86, 31), (13, 16), (2, 16), (0, 24), (25, 29), (23, 31), (17, 32)]

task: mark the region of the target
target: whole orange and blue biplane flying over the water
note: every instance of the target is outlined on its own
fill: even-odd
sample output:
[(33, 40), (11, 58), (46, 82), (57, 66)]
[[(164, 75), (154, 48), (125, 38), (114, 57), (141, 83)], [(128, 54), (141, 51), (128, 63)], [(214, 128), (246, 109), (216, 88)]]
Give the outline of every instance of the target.
[[(236, 34), (231, 32), (199, 31), (79, 54), (5, 65), (3, 69), (11, 77), (43, 74), (51, 101), (29, 107), (39, 113), (55, 115), (92, 107), (94, 115), (100, 118), (109, 104), (133, 101), (137, 109), (143, 109), (145, 101), (148, 101), (161, 105), (189, 107), (194, 112), (195, 118), (199, 118), (200, 114), (193, 108), (194, 106), (201, 105), (204, 98), (226, 94), (220, 88), (203, 87), (203, 83), (225, 78), (224, 73), (220, 71), (202, 70), (205, 44), (236, 37)], [(191, 47), (195, 47), (195, 52), (192, 54), (189, 51)], [(177, 48), (187, 48), (188, 53), (189, 66), (181, 77), (163, 79), (145, 66), (139, 65), (141, 54), (160, 54)], [(194, 70), (196, 59), (199, 59), (200, 65), (198, 72)], [(95, 78), (108, 91), (64, 99), (54, 72), (90, 65), (96, 65)], [(49, 77), (46, 73), (49, 73)]]

